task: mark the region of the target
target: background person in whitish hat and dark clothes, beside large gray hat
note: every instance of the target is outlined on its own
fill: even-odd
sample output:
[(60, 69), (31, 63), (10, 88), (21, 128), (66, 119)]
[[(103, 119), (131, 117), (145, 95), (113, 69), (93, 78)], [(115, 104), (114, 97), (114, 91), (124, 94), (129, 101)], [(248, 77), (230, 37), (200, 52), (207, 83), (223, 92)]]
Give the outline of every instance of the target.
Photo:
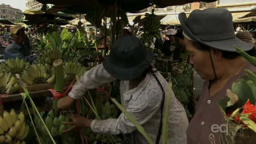
[(168, 40), (164, 41), (162, 53), (164, 54), (165, 57), (170, 57), (172, 55), (173, 47), (172, 44), (175, 41), (175, 30), (174, 29), (168, 29), (165, 35), (168, 37)]

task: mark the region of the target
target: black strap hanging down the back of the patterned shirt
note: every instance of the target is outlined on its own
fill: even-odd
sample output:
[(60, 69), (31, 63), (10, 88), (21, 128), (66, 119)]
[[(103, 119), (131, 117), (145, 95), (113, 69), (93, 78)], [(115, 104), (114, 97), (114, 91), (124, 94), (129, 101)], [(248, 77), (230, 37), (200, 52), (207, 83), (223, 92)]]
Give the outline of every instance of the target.
[(152, 72), (152, 75), (155, 77), (157, 83), (160, 85), (162, 92), (163, 92), (163, 98), (162, 98), (162, 102), (161, 102), (161, 121), (159, 124), (159, 128), (158, 128), (158, 133), (157, 133), (157, 137), (156, 137), (156, 143), (155, 144), (159, 144), (159, 141), (161, 139), (161, 135), (162, 135), (162, 127), (163, 127), (163, 110), (164, 110), (164, 98), (165, 98), (165, 92), (164, 92), (164, 88), (162, 86), (162, 84), (160, 83), (159, 79), (156, 77), (156, 75)]

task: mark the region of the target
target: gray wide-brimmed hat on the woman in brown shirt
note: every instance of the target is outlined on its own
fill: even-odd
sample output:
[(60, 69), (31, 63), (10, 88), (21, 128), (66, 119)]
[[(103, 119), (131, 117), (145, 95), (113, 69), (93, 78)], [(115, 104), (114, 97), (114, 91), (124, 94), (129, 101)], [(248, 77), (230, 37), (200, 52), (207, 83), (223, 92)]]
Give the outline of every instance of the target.
[(236, 46), (250, 51), (253, 45), (238, 39), (234, 33), (231, 13), (225, 8), (194, 10), (187, 18), (179, 14), (184, 36), (213, 48), (236, 52)]

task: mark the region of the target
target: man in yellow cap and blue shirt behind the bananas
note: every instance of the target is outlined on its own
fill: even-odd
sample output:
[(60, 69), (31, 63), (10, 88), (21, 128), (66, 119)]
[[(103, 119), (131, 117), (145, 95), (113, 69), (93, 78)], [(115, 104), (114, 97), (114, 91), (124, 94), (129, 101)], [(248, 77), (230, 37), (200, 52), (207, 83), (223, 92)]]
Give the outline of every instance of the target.
[(24, 42), (26, 40), (25, 29), (21, 26), (13, 26), (11, 28), (11, 36), (13, 43), (5, 48), (5, 59), (16, 59), (17, 57), (24, 59), (27, 62), (32, 62), (36, 56), (29, 54), (29, 49)]

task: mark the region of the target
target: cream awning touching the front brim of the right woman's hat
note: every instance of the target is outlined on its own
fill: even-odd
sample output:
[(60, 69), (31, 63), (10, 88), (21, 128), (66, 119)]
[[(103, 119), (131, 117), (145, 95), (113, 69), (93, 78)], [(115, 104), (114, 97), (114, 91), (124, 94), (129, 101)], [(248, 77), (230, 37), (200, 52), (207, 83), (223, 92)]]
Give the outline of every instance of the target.
[[(189, 13), (186, 15), (188, 17)], [(180, 25), (179, 14), (168, 14), (160, 21), (162, 25)]]

